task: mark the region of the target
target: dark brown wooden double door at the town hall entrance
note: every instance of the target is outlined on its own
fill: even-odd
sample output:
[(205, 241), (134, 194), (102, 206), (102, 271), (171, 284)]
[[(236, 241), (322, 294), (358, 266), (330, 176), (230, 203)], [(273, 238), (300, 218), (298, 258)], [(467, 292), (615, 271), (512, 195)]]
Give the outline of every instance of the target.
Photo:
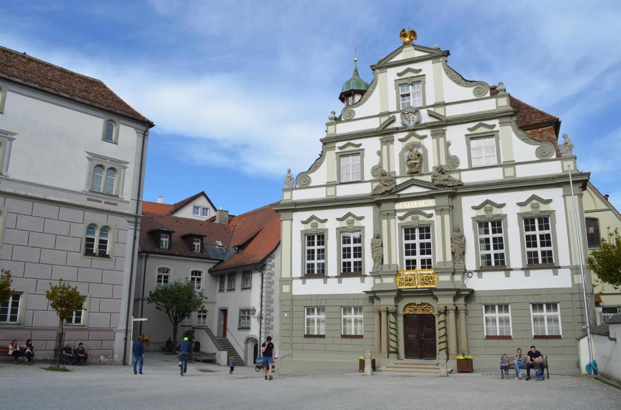
[(404, 315), (406, 359), (435, 359), (435, 315)]

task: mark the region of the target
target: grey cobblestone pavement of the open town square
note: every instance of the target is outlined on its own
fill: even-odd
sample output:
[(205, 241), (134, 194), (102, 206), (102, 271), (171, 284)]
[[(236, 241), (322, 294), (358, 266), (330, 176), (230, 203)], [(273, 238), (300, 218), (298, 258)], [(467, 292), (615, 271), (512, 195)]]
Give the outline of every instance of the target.
[(586, 377), (551, 375), (545, 382), (494, 375), (448, 378), (355, 372), (274, 374), (189, 364), (179, 376), (174, 356), (147, 355), (144, 375), (131, 367), (70, 367), (0, 363), (0, 409), (621, 409), (621, 390)]

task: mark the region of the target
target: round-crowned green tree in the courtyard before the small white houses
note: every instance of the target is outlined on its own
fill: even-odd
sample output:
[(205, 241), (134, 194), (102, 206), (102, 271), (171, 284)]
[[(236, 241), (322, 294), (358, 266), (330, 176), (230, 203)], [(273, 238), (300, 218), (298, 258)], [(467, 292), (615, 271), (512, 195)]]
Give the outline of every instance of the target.
[(176, 343), (179, 323), (192, 312), (202, 310), (205, 299), (196, 292), (192, 282), (175, 281), (149, 292), (147, 303), (153, 303), (157, 310), (166, 313), (173, 324), (173, 341)]

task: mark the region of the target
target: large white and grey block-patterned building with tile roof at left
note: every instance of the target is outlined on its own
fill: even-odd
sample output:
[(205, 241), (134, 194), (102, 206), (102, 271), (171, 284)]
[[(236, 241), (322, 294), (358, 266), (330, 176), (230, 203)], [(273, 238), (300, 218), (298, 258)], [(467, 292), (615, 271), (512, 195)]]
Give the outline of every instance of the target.
[(32, 339), (52, 355), (58, 318), (45, 290), (84, 296), (65, 340), (122, 362), (153, 123), (103, 82), (0, 47), (0, 268), (14, 294), (0, 342)]

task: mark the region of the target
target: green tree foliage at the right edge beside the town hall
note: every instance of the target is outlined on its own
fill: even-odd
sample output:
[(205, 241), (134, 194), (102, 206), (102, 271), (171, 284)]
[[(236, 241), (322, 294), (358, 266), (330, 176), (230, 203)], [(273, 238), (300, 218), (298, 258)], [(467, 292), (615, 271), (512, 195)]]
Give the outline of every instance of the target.
[(599, 248), (591, 251), (586, 263), (599, 281), (612, 285), (614, 289), (621, 289), (621, 235), (618, 229), (614, 232), (608, 229)]

